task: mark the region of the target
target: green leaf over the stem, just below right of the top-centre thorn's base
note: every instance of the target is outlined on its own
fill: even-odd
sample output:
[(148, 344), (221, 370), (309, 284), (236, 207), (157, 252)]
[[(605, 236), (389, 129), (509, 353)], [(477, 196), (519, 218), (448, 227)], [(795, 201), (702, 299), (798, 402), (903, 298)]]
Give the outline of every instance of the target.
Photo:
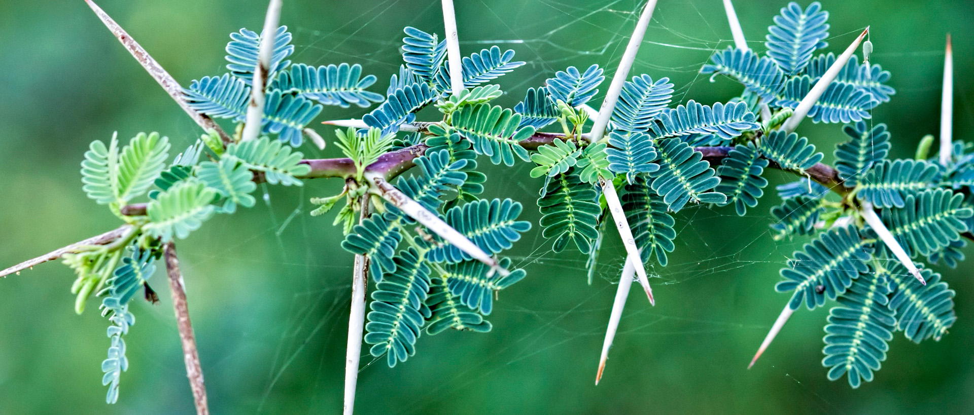
[(531, 160), (518, 142), (531, 137), (535, 127), (520, 125), (520, 114), (490, 104), (467, 106), (453, 114), (453, 127), (473, 144), (474, 152), (490, 156), (494, 164), (512, 166), (514, 156)]

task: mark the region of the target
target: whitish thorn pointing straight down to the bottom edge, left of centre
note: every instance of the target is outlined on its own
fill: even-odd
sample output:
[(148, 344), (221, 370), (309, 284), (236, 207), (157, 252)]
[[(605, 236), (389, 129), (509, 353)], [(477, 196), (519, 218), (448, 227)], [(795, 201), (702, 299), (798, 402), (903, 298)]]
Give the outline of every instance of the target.
[[(358, 222), (368, 218), (369, 195), (361, 197)], [(368, 257), (356, 255), (352, 275), (352, 310), (349, 313), (349, 341), (345, 350), (345, 407), (343, 413), (352, 415), (356, 405), (358, 362), (361, 359), (362, 331), (365, 327), (365, 286), (368, 278)]]

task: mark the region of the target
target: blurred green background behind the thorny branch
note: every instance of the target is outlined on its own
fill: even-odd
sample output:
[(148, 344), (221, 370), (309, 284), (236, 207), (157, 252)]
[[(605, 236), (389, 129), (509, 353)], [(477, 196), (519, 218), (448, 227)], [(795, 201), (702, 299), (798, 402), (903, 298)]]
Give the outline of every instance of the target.
[[(183, 85), (224, 72), (227, 35), (257, 29), (264, 1), (103, 0), (115, 17)], [(528, 64), (501, 79), (512, 106), (528, 86), (569, 65), (615, 68), (639, 8), (634, 0), (458, 0), (465, 54), (491, 44)], [(784, 2), (737, 2), (745, 35), (764, 50), (766, 28)], [(805, 3), (803, 3), (805, 6)], [(955, 138), (971, 139), (974, 42), (968, 0), (827, 0), (830, 51), (872, 26), (872, 60), (893, 73), (892, 102), (874, 112), (893, 134), (893, 156), (911, 156), (938, 128), (944, 35), (955, 39)], [(385, 91), (400, 63), (401, 28), (442, 32), (435, 0), (285, 1), (292, 59), (360, 63)], [(184, 148), (200, 134), (94, 17), (84, 2), (0, 3), (0, 267), (117, 226), (81, 191), (79, 162), (113, 131), (168, 135)], [(740, 87), (710, 84), (696, 71), (730, 45), (720, 0), (660, 0), (634, 74), (670, 77), (676, 99), (726, 101)], [(611, 71), (607, 74), (611, 77)], [(605, 86), (608, 85), (608, 82)], [(603, 87), (603, 90), (605, 88)], [(601, 96), (601, 95), (600, 95)], [(597, 101), (596, 101), (597, 102)], [(319, 121), (363, 110), (326, 108)], [(316, 128), (331, 139), (329, 128)], [(841, 126), (801, 131), (831, 160)], [(336, 156), (305, 146), (309, 156)], [(603, 382), (592, 381), (621, 268), (605, 247), (585, 284), (578, 253), (553, 255), (532, 207), (539, 181), (527, 164), (495, 169), (487, 196), (525, 203), (535, 222), (511, 252), (528, 278), (501, 294), (489, 334), (424, 336), (417, 356), (385, 360), (359, 376), (358, 413), (971, 413), (974, 411), (974, 284), (963, 263), (946, 271), (959, 320), (940, 342), (913, 344), (897, 333), (877, 379), (859, 390), (829, 382), (820, 364), (827, 307), (795, 314), (764, 358), (746, 364), (788, 296), (777, 270), (803, 240), (777, 243), (768, 231), (770, 191), (746, 218), (732, 209), (685, 209), (665, 268), (652, 269), (657, 305), (629, 299)], [(511, 171), (512, 170), (512, 171)], [(772, 185), (790, 180), (770, 172)], [(217, 414), (338, 413), (352, 256), (338, 247), (331, 216), (310, 218), (308, 199), (338, 189), (268, 189), (268, 203), (217, 217), (180, 242), (193, 323)], [(259, 189), (258, 193), (265, 190)], [(259, 195), (259, 194), (258, 194)], [(614, 238), (609, 238), (614, 239)], [(968, 254), (971, 254), (968, 250)], [(159, 305), (134, 301), (127, 336), (131, 369), (118, 404), (104, 403), (99, 363), (107, 322), (94, 300), (72, 311), (73, 276), (49, 263), (0, 281), (0, 413), (192, 413), (193, 400), (162, 273), (150, 281)], [(366, 352), (367, 353), (367, 352)], [(370, 362), (363, 357), (363, 366)]]

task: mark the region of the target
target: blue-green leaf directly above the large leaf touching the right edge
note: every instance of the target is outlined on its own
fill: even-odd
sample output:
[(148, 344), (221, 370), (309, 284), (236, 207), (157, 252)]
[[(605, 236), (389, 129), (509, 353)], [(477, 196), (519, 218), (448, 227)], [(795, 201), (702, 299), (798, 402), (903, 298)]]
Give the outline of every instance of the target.
[(882, 160), (860, 179), (856, 197), (877, 207), (903, 207), (907, 195), (931, 187), (937, 172), (936, 164), (924, 160)]

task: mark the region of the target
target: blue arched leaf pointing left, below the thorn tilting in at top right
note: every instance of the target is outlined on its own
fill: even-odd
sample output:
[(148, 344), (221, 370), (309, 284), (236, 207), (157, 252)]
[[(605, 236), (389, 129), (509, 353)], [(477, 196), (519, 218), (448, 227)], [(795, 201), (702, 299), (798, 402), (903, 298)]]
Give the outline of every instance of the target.
[(723, 74), (743, 84), (768, 102), (774, 102), (785, 86), (785, 73), (767, 56), (759, 57), (751, 50), (728, 48), (710, 56), (710, 63), (700, 68), (701, 74)]

